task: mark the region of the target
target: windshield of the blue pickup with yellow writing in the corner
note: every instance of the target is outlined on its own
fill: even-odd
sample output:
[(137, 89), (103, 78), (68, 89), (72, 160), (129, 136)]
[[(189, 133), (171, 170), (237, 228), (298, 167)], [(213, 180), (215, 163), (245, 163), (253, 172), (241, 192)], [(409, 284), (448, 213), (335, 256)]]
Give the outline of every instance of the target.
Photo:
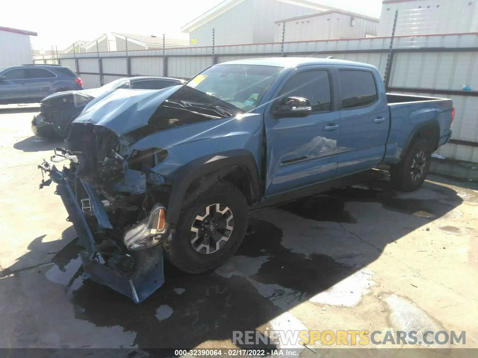
[(224, 64), (208, 68), (186, 85), (245, 111), (261, 102), (282, 67)]

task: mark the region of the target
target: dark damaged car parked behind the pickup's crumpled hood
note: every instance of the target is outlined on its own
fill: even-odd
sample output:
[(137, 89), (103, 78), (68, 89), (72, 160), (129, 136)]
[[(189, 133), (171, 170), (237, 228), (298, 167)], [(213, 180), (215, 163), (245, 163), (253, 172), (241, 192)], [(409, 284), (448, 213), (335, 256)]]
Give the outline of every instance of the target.
[(32, 130), (37, 137), (59, 139), (68, 137), (71, 122), (94, 99), (101, 99), (118, 88), (163, 89), (184, 80), (171, 77), (136, 76), (120, 78), (99, 88), (65, 91), (49, 95), (41, 101), (40, 113), (33, 117)]

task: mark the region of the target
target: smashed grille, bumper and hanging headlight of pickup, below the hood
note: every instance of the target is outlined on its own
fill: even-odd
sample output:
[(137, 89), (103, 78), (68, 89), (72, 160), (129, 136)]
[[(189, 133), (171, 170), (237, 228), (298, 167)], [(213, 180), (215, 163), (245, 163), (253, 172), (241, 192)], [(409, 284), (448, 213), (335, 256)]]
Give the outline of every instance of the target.
[[(93, 130), (92, 126), (86, 127)], [(75, 226), (78, 243), (84, 247), (80, 253), (84, 278), (139, 303), (164, 283), (160, 244), (172, 231), (160, 200), (167, 200), (168, 186), (157, 174), (130, 169), (131, 163), (131, 167), (147, 171), (144, 163), (151, 158), (137, 152), (123, 153), (123, 157), (119, 143), (115, 147), (108, 141), (116, 136), (108, 134), (89, 133), (87, 144), (93, 147), (83, 148), (90, 150), (56, 148), (51, 160), (68, 160), (70, 165), (60, 171), (43, 162), (39, 168), (49, 179), (43, 179), (40, 188), (52, 181), (57, 184), (56, 193)], [(102, 153), (105, 146), (114, 149)], [(105, 156), (98, 160), (102, 154)]]

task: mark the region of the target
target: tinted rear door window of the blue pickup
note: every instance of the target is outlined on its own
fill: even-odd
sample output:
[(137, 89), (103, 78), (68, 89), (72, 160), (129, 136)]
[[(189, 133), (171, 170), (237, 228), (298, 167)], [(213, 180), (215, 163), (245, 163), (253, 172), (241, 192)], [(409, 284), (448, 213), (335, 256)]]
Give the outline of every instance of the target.
[(366, 107), (377, 98), (377, 86), (373, 74), (368, 71), (339, 70), (342, 108)]

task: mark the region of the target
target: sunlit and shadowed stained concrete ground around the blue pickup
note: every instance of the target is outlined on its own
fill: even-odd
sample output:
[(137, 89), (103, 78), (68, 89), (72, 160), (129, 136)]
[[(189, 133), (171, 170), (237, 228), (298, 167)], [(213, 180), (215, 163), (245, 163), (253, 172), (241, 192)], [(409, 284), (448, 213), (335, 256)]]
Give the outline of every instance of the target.
[(377, 180), (253, 212), (228, 263), (166, 263), (136, 305), (79, 276), (60, 197), (38, 189), (36, 166), (62, 143), (32, 137), (33, 115), (0, 114), (0, 347), (233, 347), (233, 330), (266, 329), (466, 331), (478, 347), (476, 184), (429, 176), (405, 194)]

